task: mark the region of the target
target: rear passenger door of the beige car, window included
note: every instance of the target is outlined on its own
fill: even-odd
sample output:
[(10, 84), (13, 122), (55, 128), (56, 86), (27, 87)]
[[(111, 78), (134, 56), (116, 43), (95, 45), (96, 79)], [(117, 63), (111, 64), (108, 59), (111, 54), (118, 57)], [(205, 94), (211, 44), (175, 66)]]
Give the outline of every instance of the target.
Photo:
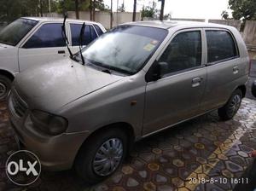
[(201, 111), (224, 105), (237, 87), (244, 63), (239, 59), (236, 40), (225, 29), (206, 29), (207, 86)]

